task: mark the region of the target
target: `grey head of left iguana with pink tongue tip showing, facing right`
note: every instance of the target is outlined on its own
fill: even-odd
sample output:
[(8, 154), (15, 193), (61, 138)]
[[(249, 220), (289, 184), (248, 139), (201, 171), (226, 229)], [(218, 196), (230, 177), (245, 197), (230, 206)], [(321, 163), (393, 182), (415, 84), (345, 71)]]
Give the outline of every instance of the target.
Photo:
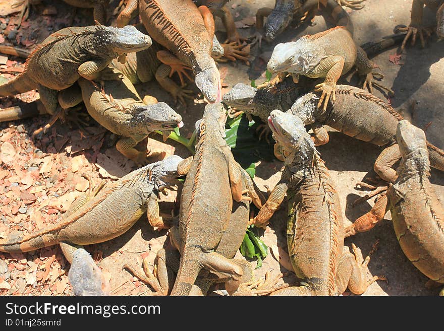
[[(173, 108), (164, 102), (157, 102), (153, 105), (140, 106), (140, 112), (135, 120), (140, 121), (146, 125), (148, 131), (160, 130), (165, 135), (170, 135), (170, 132), (176, 127), (182, 127), (182, 116), (179, 115)], [(164, 137), (165, 138), (165, 137)]]

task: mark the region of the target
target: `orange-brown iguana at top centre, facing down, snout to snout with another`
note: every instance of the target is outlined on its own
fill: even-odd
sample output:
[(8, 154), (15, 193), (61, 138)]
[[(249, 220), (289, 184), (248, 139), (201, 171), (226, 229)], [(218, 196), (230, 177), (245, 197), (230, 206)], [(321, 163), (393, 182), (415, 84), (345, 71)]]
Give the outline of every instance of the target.
[(211, 57), (214, 20), (208, 8), (197, 8), (192, 0), (130, 0), (117, 26), (128, 24), (137, 13), (148, 34), (169, 50), (157, 52), (157, 57), (173, 72), (188, 75), (185, 70), (191, 68), (208, 102), (220, 101), (220, 74)]

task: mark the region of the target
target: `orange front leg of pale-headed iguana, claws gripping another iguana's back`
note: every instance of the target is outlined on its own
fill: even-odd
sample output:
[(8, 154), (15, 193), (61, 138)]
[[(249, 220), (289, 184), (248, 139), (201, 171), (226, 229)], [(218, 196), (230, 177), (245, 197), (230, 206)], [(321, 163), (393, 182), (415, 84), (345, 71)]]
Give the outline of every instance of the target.
[(322, 75), (319, 74), (322, 74), (322, 72), (326, 69), (328, 69), (328, 72), (325, 76), (325, 81), (315, 86), (315, 91), (322, 91), (317, 107), (321, 108), (323, 103), (323, 111), (327, 109), (327, 104), (330, 97), (331, 102), (335, 103), (336, 82), (338, 82), (338, 79), (341, 77), (342, 70), (344, 69), (344, 58), (340, 55), (328, 56), (320, 60), (319, 64), (310, 72), (310, 76), (306, 76), (310, 78), (322, 77)]

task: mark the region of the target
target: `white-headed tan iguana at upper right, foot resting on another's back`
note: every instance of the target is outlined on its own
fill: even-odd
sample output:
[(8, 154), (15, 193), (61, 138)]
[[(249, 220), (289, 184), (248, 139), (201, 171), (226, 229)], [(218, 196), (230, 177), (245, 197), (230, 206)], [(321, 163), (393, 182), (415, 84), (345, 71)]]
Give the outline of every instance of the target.
[[(315, 86), (316, 91), (322, 94), (317, 104), (327, 108), (328, 100), (335, 102), (335, 89), (338, 79), (356, 65), (359, 75), (365, 75), (363, 88), (368, 85), (372, 92), (373, 64), (365, 51), (356, 45), (350, 32), (344, 27), (335, 27), (312, 36), (306, 35), (294, 42), (278, 44), (273, 49), (267, 63), (267, 70), (271, 73), (287, 72), (293, 76), (295, 83), (299, 75), (309, 78), (325, 78), (323, 83)], [(377, 74), (381, 75), (381, 74)], [(384, 88), (386, 90), (387, 88)]]

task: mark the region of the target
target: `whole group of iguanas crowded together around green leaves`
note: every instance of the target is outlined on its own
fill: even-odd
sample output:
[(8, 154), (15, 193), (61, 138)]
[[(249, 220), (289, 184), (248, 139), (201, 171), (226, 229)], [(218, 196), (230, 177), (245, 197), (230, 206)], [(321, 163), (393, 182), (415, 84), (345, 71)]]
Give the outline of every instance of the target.
[[(319, 10), (338, 26), (276, 45), (267, 63), (268, 72), (277, 74), (274, 79), (258, 88), (237, 84), (224, 96), (216, 61), (222, 56), (248, 60), (228, 1), (129, 0), (116, 27), (102, 25), (106, 1), (66, 2), (94, 8), (97, 24), (53, 33), (30, 54), (0, 46), (0, 51), (27, 56), (24, 72), (1, 85), (0, 96), (38, 89), (39, 112), (51, 114), (50, 122), (83, 102), (92, 118), (122, 137), (116, 148), (142, 167), (106, 187), (102, 182), (90, 188), (60, 223), (0, 239), (0, 251), (27, 252), (59, 244), (72, 263), (69, 279), (74, 294), (106, 295), (108, 284), (82, 245), (120, 236), (146, 212), (150, 225), (169, 229), (173, 249), (157, 252), (155, 272), (145, 261), (145, 275), (127, 269), (156, 294), (205, 295), (213, 283), (225, 283), (230, 295), (339, 295), (347, 287), (361, 294), (385, 278), (370, 275), (370, 258), (354, 244), (351, 253), (344, 237), (370, 230), (390, 210), (407, 257), (428, 278), (444, 283), (444, 210), (428, 180), (430, 166), (444, 171), (444, 151), (372, 94), (373, 85), (386, 88), (374, 82), (373, 76), (380, 74), (373, 73), (377, 66), (368, 58), (401, 40), (403, 49), (417, 34), (424, 44), (424, 33), (430, 34), (421, 24), (424, 5), (436, 9), (436, 33), (444, 36), (443, 1), (413, 0), (412, 22), (405, 34), (360, 47), (342, 6), (358, 10), (364, 0), (276, 0), (273, 9), (257, 12), (252, 44), (260, 47), (263, 38), (271, 41), (291, 25), (310, 21)], [(29, 11), (27, 6), (36, 3), (29, 0), (25, 8)], [(141, 24), (128, 25), (137, 15)], [(215, 38), (213, 15), (227, 30), (222, 44)], [(363, 89), (337, 84), (352, 68), (364, 76)], [(174, 73), (180, 85), (172, 79)], [(208, 102), (196, 122), (195, 154), (145, 165), (146, 151), (136, 145), (153, 131), (162, 131), (166, 139), (183, 122), (168, 104), (152, 96), (141, 98), (134, 84), (155, 78), (175, 100), (185, 103), (194, 97), (185, 89), (184, 77), (195, 82)], [(285, 168), (267, 198), (224, 140), (227, 111), (221, 102), (248, 118), (259, 117), (272, 132), (274, 155)], [(0, 120), (26, 116), (25, 109), (2, 110)], [(329, 140), (324, 125), (384, 148), (374, 170), (388, 182), (387, 189), (371, 211), (347, 228), (336, 184), (316, 150)], [(181, 176), (186, 179), (179, 216), (164, 219), (159, 216), (158, 194), (181, 185)], [(276, 285), (282, 275), (267, 274), (264, 281), (256, 281), (250, 263), (234, 258), (247, 227), (265, 227), (285, 196), (288, 251), (301, 280), (298, 286)], [(254, 217), (251, 203), (259, 210)]]

